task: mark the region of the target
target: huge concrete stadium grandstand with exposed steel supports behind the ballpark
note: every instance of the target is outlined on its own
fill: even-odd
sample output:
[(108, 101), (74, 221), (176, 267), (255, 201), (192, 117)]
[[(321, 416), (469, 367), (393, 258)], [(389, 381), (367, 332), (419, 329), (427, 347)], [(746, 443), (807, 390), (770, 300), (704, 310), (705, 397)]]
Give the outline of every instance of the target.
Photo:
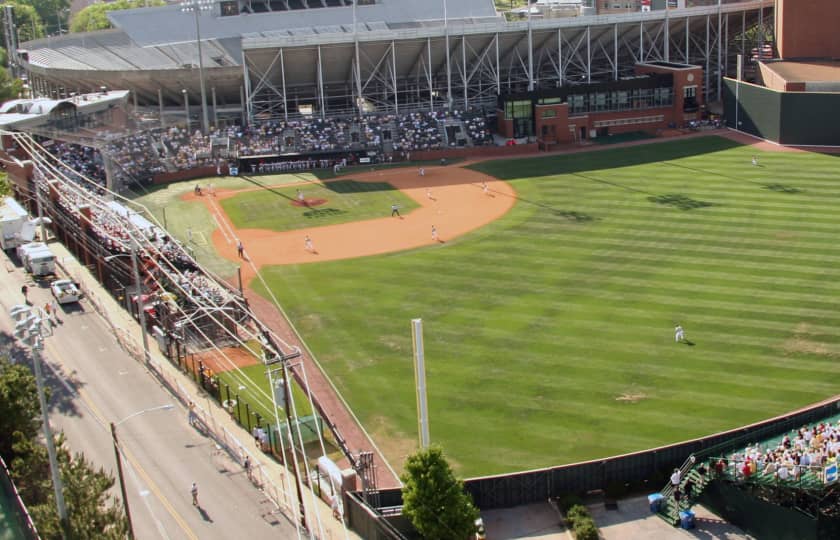
[(222, 1), (206, 13), (110, 12), (114, 30), (31, 41), (16, 54), (37, 95), (125, 89), (141, 109), (173, 116), (195, 115), (203, 73), (212, 125), (454, 108), (492, 115), (503, 93), (618, 81), (649, 62), (700, 66), (703, 102), (714, 103), (737, 55), (764, 47), (755, 42), (764, 33), (748, 38), (747, 29), (772, 25), (774, 4), (689, 5), (508, 22), (491, 0)]

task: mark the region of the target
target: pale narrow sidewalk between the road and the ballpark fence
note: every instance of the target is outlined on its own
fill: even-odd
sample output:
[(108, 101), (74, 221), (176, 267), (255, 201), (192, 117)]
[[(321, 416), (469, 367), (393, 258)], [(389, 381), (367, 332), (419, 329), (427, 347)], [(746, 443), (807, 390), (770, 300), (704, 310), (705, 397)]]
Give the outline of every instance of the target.
[[(85, 299), (107, 321), (120, 346), (135, 360), (144, 361), (142, 333), (134, 318), (101, 287), (96, 278), (81, 265), (75, 257), (58, 242), (51, 242), (50, 249), (56, 255), (60, 268), (67, 276), (78, 282), (85, 293)], [(11, 264), (11, 263), (9, 263)], [(298, 521), (298, 501), (294, 478), (282, 464), (255, 450), (252, 437), (228, 414), (220, 404), (200, 388), (187, 374), (182, 373), (159, 350), (153, 336), (149, 336), (150, 362), (147, 368), (173, 396), (183, 405), (184, 421), (187, 421), (187, 405), (195, 404), (196, 428), (204, 431), (231, 458), (242, 465), (250, 456), (253, 483), (291, 522)], [(246, 441), (243, 444), (241, 441)], [(305, 474), (303, 468), (301, 473)], [(321, 539), (358, 539), (357, 534), (345, 529), (332, 515), (330, 506), (304, 485), (303, 499), (307, 524), (312, 534)]]

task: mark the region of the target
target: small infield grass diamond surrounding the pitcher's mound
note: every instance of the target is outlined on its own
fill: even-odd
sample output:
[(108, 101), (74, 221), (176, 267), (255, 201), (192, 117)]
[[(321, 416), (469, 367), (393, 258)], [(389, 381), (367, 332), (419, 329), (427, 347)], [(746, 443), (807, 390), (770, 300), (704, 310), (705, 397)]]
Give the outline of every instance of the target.
[[(325, 204), (295, 206), (298, 190), (307, 200)], [(418, 208), (411, 198), (387, 182), (333, 180), (326, 183), (246, 191), (223, 199), (222, 208), (238, 229), (289, 231), (391, 215), (396, 204), (405, 215)]]

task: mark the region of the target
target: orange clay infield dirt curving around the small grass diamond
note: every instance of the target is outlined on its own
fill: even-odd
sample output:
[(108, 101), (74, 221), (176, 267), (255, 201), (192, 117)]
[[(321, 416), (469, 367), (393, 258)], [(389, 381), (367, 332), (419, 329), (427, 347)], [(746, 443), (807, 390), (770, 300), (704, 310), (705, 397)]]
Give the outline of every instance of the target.
[[(505, 182), (460, 167), (433, 167), (420, 176), (416, 169), (372, 171), (353, 176), (360, 182), (388, 182), (414, 199), (420, 208), (391, 217), (391, 208), (382, 209), (382, 218), (310, 229), (276, 232), (265, 229), (236, 229), (216, 200), (240, 191), (217, 190), (215, 197), (196, 197), (206, 204), (221, 228), (213, 232), (213, 244), (225, 258), (240, 260), (236, 239), (242, 241), (248, 260), (256, 268), (274, 264), (347, 259), (391, 253), (421, 246), (446, 243), (482, 227), (513, 207), (516, 194)], [(487, 184), (487, 193), (483, 183)], [(432, 226), (438, 240), (432, 238)], [(306, 249), (305, 238), (312, 240)], [(251, 265), (242, 266), (247, 283), (254, 277)]]

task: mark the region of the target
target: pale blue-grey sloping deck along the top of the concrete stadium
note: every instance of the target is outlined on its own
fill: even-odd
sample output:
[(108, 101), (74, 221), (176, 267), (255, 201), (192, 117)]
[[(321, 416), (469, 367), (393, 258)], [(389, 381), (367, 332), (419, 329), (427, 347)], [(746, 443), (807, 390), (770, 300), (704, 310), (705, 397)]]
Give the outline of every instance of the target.
[[(451, 20), (490, 20), (498, 17), (492, 0), (449, 0), (446, 16)], [(410, 24), (442, 24), (443, 2), (429, 0), (376, 0), (356, 7), (356, 20), (371, 30)], [(111, 11), (108, 18), (141, 46), (195, 40), (195, 14), (178, 5)], [(352, 6), (295, 9), (226, 15), (218, 6), (201, 15), (201, 33), (216, 39), (238, 38), (261, 32), (336, 33), (353, 31)]]

